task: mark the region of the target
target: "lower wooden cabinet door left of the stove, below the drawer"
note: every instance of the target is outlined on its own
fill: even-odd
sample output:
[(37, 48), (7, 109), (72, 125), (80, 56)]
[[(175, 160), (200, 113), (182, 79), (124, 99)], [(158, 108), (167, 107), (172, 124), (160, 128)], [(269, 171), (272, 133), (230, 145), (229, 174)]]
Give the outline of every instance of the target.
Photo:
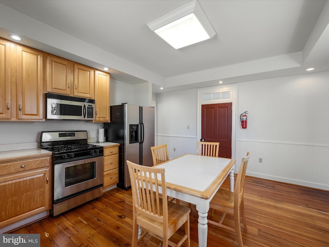
[(50, 209), (49, 168), (0, 179), (0, 228)]

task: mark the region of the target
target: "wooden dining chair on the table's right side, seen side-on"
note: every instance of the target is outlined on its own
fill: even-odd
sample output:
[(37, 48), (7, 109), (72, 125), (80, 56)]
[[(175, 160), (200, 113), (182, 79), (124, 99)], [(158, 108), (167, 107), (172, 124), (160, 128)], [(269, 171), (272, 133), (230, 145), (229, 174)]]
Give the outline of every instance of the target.
[[(244, 181), (246, 177), (246, 170), (247, 170), (249, 157), (250, 157), (250, 153), (247, 152), (247, 156), (242, 158), (239, 172), (237, 173), (234, 192), (220, 188), (218, 189), (217, 193), (210, 201), (210, 208), (223, 212), (223, 215), (220, 221), (217, 222), (214, 221), (213, 219), (208, 219), (208, 223), (235, 232), (237, 242), (239, 243), (239, 247), (243, 247), (241, 226), (240, 226), (240, 215), (242, 218), (243, 228), (247, 230), (246, 218), (244, 213), (243, 192), (244, 192)], [(223, 224), (223, 220), (226, 214), (233, 215), (234, 227)]]

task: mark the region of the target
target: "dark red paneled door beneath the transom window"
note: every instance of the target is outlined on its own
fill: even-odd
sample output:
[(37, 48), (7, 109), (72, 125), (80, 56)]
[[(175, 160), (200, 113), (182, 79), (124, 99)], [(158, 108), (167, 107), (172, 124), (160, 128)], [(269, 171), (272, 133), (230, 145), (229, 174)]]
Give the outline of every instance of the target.
[(220, 157), (232, 157), (232, 103), (203, 104), (201, 138), (220, 143)]

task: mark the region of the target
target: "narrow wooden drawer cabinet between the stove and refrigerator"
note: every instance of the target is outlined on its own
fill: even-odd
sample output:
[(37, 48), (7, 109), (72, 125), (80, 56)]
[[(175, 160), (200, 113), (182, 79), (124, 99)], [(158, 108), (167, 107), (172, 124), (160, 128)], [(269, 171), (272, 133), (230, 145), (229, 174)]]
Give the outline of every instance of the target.
[(119, 181), (119, 144), (104, 146), (104, 181), (103, 189), (116, 185)]

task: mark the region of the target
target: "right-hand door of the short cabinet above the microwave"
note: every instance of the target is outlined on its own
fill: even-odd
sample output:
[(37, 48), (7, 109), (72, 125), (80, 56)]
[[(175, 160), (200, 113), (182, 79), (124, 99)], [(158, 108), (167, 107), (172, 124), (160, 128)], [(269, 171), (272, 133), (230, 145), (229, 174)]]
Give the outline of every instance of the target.
[(94, 69), (74, 64), (74, 96), (94, 99)]

